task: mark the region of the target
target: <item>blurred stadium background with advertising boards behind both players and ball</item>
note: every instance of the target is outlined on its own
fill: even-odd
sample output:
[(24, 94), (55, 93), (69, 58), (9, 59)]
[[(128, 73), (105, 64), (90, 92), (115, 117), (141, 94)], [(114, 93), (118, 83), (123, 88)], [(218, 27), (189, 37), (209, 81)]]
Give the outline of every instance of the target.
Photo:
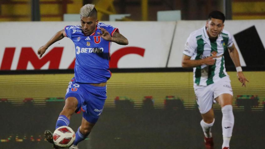
[[(43, 132), (54, 129), (64, 106), (74, 46), (63, 39), (49, 48), (54, 56), (35, 57), (56, 31), (79, 24), (79, 10), (87, 3), (94, 3), (98, 19), (119, 28), (129, 45), (112, 44), (104, 112), (81, 149), (204, 148), (193, 73), (180, 61), (188, 35), (212, 10), (225, 13), (225, 29), (234, 35), (250, 81), (241, 87), (226, 53), (234, 92), (231, 147), (264, 148), (264, 0), (0, 0), (1, 149), (51, 148)], [(215, 147), (221, 148), (222, 114), (218, 104), (213, 107)], [(81, 117), (72, 117), (73, 130)]]

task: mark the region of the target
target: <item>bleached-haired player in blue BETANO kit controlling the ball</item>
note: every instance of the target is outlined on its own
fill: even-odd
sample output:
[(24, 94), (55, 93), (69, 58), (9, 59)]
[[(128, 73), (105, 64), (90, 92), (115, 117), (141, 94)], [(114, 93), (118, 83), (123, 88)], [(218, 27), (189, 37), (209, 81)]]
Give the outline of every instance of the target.
[[(75, 74), (69, 82), (65, 106), (56, 122), (56, 128), (68, 126), (71, 115), (83, 111), (81, 126), (70, 149), (78, 149), (77, 144), (89, 135), (102, 113), (107, 98), (106, 84), (111, 77), (109, 71), (111, 42), (128, 45), (128, 40), (117, 28), (98, 22), (97, 10), (93, 4), (84, 5), (80, 9), (80, 14), (81, 26), (66, 26), (38, 50), (38, 55), (41, 57), (50, 45), (64, 37), (70, 38), (75, 44)], [(54, 148), (58, 148), (49, 130), (45, 131), (44, 136)]]

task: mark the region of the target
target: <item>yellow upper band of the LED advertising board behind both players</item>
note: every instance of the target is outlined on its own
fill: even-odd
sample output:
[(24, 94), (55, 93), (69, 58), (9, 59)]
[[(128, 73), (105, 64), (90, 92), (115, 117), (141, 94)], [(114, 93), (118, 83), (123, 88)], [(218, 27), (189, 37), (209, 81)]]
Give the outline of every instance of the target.
[[(236, 72), (228, 72), (234, 92), (234, 103), (237, 95), (258, 95), (259, 106), (265, 98), (265, 72), (244, 72), (247, 87), (241, 87)], [(22, 102), (24, 98), (44, 102), (49, 97), (64, 97), (66, 88), (73, 74), (31, 74), (31, 75), (0, 75), (0, 98), (11, 102)], [(126, 96), (140, 107), (144, 96), (153, 96), (156, 108), (162, 108), (167, 95), (183, 99), (186, 109), (196, 106), (193, 91), (192, 72), (134, 72), (113, 73), (107, 85), (107, 100), (105, 106), (114, 106), (116, 96)], [(235, 105), (235, 104), (234, 104)], [(218, 104), (215, 109), (220, 109)], [(239, 108), (239, 109), (242, 109)], [(253, 108), (252, 108), (253, 109)]]

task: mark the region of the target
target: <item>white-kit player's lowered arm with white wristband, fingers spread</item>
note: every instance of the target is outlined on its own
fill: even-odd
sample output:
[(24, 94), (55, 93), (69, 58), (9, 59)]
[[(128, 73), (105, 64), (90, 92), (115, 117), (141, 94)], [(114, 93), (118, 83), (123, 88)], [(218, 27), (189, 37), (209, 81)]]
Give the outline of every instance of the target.
[[(229, 50), (229, 55), (230, 55), (234, 65), (236, 67), (239, 67), (240, 69), (242, 69), (241, 65), (240, 65), (240, 61), (239, 61), (239, 55), (238, 55), (238, 52), (236, 50), (235, 45), (233, 44), (230, 48), (228, 48), (228, 50)], [(242, 70), (237, 70), (236, 75), (238, 77), (238, 80), (242, 83), (242, 86), (246, 87), (246, 82), (249, 82), (249, 81), (244, 76)]]

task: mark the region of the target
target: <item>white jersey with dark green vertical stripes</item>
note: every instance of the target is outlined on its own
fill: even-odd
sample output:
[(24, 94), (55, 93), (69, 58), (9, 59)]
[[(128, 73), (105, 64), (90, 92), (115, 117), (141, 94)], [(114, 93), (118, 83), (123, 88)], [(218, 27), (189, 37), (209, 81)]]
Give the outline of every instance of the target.
[(228, 76), (225, 71), (223, 54), (232, 45), (233, 38), (226, 30), (222, 30), (216, 40), (209, 39), (205, 26), (189, 35), (183, 54), (190, 56), (191, 60), (204, 59), (212, 54), (217, 56), (215, 65), (202, 65), (193, 68), (194, 84), (207, 86)]

